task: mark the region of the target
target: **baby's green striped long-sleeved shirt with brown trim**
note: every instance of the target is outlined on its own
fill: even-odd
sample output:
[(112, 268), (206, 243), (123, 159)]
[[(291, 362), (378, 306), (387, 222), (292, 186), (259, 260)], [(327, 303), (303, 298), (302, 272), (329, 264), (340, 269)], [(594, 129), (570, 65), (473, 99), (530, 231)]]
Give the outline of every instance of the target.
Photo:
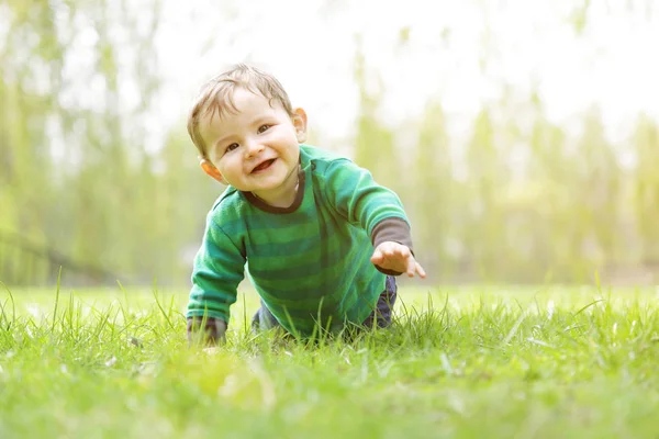
[(300, 147), (300, 184), (290, 207), (270, 206), (228, 187), (206, 218), (194, 259), (187, 317), (228, 322), (245, 268), (256, 291), (289, 331), (311, 334), (360, 324), (384, 290), (370, 262), (373, 246), (412, 249), (398, 195), (370, 172), (323, 149)]

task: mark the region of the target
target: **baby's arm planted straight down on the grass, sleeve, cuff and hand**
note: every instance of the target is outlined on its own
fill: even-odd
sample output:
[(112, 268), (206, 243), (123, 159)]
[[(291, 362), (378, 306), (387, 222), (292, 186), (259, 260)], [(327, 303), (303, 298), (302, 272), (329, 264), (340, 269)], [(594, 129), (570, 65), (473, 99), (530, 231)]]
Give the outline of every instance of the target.
[(224, 341), (230, 307), (236, 301), (245, 260), (244, 251), (213, 221), (211, 213), (192, 271), (187, 314), (190, 342)]

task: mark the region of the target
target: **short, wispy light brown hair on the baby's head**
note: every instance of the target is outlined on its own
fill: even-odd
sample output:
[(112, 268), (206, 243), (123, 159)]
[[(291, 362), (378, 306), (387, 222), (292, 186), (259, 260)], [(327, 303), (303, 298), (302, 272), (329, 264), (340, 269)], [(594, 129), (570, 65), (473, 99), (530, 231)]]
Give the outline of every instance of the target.
[(269, 100), (270, 105), (273, 101), (279, 102), (289, 115), (294, 114), (288, 93), (277, 78), (256, 67), (238, 64), (206, 81), (192, 103), (188, 116), (188, 133), (202, 157), (206, 156), (206, 146), (199, 134), (199, 120), (208, 114), (211, 114), (211, 117), (222, 117), (226, 112), (237, 113), (233, 92), (238, 87), (263, 95)]

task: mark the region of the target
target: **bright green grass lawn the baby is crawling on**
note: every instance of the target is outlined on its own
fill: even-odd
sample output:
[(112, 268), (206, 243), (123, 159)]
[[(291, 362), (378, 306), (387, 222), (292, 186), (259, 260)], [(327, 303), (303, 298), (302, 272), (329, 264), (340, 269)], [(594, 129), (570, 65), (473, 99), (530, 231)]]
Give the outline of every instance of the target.
[[(654, 290), (401, 288), (350, 342), (189, 349), (186, 294), (4, 291), (0, 438), (657, 437)], [(248, 311), (245, 311), (248, 309)]]

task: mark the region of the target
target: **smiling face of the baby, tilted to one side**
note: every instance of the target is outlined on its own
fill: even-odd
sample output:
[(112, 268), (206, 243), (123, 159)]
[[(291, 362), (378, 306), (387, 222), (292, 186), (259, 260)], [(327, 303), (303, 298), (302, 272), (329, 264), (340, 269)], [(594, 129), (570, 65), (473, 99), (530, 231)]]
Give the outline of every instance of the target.
[(278, 102), (270, 106), (268, 99), (243, 88), (234, 91), (233, 100), (235, 114), (200, 120), (208, 158), (227, 184), (266, 202), (294, 193), (304, 113), (298, 110), (291, 117)]

